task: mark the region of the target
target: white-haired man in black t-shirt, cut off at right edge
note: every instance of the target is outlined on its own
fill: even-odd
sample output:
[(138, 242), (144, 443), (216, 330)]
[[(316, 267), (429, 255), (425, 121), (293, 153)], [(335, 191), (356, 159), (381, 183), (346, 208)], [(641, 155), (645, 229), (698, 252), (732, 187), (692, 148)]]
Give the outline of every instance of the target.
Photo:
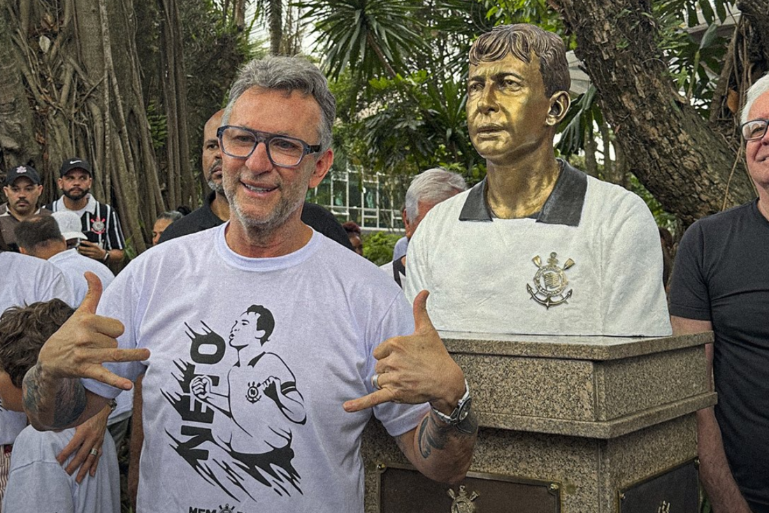
[(697, 412), (700, 478), (715, 513), (769, 512), (769, 75), (741, 116), (758, 198), (691, 225), (671, 281), (676, 335), (713, 330), (718, 404)]

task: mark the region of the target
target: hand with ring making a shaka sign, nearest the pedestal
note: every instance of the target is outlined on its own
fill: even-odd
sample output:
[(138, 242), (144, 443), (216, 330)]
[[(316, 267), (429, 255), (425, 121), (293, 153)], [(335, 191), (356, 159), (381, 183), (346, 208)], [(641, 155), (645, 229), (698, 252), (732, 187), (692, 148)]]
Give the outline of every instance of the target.
[(464, 374), (446, 351), (427, 311), (428, 291), (414, 298), (414, 333), (388, 338), (374, 350), (380, 390), (345, 402), (345, 411), (361, 411), (384, 402), (429, 402), (451, 414), (464, 395)]

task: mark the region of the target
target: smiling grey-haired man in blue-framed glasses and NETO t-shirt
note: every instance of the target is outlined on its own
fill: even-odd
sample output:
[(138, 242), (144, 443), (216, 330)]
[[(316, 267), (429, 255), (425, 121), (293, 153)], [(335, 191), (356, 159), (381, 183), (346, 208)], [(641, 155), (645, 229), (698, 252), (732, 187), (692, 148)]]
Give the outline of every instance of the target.
[(246, 65), (218, 130), (229, 222), (135, 258), (101, 301), (92, 284), (25, 378), (33, 425), (61, 429), (144, 375), (136, 511), (363, 511), (372, 413), (425, 475), (464, 477), (478, 422), (427, 294), (412, 315), (301, 222), (334, 119), (315, 65)]

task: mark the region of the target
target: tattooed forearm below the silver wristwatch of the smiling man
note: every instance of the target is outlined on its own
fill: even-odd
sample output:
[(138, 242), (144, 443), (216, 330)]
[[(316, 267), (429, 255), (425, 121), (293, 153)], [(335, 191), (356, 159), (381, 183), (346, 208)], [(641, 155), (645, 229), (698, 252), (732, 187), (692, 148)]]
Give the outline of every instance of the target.
[[(411, 463), (434, 481), (456, 483), (464, 478), (478, 437), (478, 418), (475, 412), (459, 425), (449, 425), (432, 411), (419, 422), (414, 438), (398, 438), (398, 445)], [(404, 445), (411, 443), (411, 450)]]

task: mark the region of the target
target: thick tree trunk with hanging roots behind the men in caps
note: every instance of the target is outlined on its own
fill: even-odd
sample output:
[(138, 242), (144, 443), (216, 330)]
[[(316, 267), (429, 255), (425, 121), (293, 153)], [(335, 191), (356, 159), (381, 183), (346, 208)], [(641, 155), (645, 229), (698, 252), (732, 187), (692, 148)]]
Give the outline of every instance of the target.
[[(0, 134), (23, 117), (24, 125), (36, 132), (35, 142), (24, 142), (23, 156), (6, 149), (12, 145), (3, 140), (4, 158), (36, 158), (35, 166), (48, 179), (45, 202), (58, 195), (52, 182), (62, 160), (87, 158), (94, 168), (93, 195), (117, 209), (129, 253), (143, 251), (161, 200), (141, 93), (133, 0), (2, 2), (0, 38), (7, 37), (4, 27), (16, 32), (11, 33), (12, 44), (0, 40), (6, 42), (0, 62), (17, 71), (2, 74), (0, 95), (13, 87), (18, 91), (8, 78), (18, 80), (20, 75), (26, 91), (14, 93), (25, 101), (15, 104), (15, 118), (3, 116)], [(21, 32), (25, 26), (28, 32)], [(41, 45), (43, 38), (47, 42)], [(22, 136), (11, 137), (17, 138)]]

